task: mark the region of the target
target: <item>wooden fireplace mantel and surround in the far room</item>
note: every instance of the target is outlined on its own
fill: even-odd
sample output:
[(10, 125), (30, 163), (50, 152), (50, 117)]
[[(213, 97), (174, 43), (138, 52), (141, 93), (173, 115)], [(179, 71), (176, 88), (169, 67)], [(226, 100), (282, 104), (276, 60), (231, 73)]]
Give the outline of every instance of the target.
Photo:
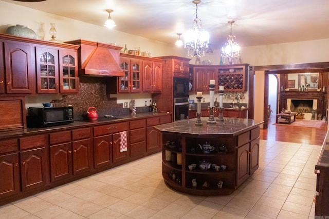
[(287, 109), (287, 99), (317, 99), (317, 114), (327, 115), (325, 91), (280, 91), (279, 109)]

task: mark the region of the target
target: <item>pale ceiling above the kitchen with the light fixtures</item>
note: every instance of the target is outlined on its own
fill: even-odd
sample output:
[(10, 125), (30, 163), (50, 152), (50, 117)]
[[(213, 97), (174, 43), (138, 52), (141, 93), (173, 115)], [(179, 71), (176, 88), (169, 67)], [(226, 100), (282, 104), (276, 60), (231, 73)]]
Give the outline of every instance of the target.
[[(174, 44), (177, 33), (192, 27), (192, 0), (47, 0), (24, 7), (103, 26), (108, 13), (117, 31)], [(242, 47), (329, 38), (328, 0), (202, 0), (198, 18), (210, 33), (212, 49), (221, 48), (230, 33)]]

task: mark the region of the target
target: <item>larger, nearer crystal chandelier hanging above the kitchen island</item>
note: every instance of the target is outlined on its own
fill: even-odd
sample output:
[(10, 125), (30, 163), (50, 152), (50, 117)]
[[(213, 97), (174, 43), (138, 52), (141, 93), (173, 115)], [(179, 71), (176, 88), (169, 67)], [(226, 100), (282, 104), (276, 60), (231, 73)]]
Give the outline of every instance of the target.
[(194, 0), (192, 3), (196, 5), (196, 16), (193, 21), (193, 28), (185, 34), (184, 48), (188, 49), (188, 56), (203, 57), (205, 56), (205, 49), (209, 44), (209, 33), (201, 28), (202, 22), (197, 17), (197, 4), (201, 1)]

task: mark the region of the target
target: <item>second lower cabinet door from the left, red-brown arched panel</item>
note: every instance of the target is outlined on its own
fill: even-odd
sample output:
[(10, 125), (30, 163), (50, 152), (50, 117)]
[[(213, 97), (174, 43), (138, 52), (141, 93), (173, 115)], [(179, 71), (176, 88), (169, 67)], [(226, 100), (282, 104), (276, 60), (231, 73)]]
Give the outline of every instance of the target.
[(47, 183), (47, 155), (45, 148), (38, 148), (20, 152), (22, 190), (42, 187)]

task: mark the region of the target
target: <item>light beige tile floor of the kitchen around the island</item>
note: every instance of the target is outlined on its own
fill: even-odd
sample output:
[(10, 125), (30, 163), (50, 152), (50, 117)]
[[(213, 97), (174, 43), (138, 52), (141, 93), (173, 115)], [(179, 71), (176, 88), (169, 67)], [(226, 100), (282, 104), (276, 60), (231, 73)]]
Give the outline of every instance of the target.
[(168, 188), (161, 154), (0, 207), (0, 218), (314, 218), (321, 146), (261, 140), (260, 167), (228, 196)]

